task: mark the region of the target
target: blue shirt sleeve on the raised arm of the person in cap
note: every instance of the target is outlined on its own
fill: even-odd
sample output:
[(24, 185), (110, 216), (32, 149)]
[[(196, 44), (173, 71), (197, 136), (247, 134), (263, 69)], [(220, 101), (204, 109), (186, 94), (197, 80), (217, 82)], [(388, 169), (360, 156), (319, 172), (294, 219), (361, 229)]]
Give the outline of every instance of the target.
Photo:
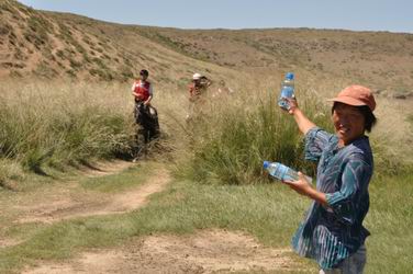
[(321, 129), (320, 127), (311, 128), (305, 134), (305, 160), (319, 161), (323, 150), (326, 148), (332, 137), (332, 134)]

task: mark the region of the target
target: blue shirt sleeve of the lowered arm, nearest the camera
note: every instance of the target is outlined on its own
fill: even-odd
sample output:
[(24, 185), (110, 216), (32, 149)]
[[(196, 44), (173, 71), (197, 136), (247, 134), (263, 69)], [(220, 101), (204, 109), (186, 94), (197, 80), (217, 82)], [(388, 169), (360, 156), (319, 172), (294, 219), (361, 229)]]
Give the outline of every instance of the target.
[(327, 205), (344, 222), (354, 224), (360, 198), (367, 193), (368, 183), (372, 174), (372, 167), (361, 157), (351, 157), (342, 174), (342, 186), (337, 192), (327, 193)]

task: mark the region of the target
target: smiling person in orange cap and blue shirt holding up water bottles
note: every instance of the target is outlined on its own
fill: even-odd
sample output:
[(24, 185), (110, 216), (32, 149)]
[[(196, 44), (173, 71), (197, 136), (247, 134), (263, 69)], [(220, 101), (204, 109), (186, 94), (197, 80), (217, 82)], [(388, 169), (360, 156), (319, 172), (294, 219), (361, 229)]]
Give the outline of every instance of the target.
[(376, 124), (376, 101), (368, 88), (350, 85), (332, 99), (335, 135), (316, 127), (289, 100), (291, 114), (305, 135), (305, 158), (319, 161), (316, 189), (302, 173), (286, 182), (314, 202), (293, 239), (293, 249), (315, 259), (320, 273), (362, 273), (365, 240), (362, 220), (369, 209), (368, 184), (373, 160), (368, 137)]

